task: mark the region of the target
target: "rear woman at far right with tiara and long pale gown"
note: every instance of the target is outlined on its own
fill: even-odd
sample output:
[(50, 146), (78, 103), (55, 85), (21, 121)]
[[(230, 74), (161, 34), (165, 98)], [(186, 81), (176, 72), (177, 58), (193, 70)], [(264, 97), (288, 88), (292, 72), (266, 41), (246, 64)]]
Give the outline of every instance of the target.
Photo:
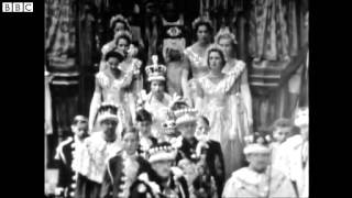
[(220, 45), (224, 52), (227, 64), (222, 68), (222, 73), (229, 74), (235, 67), (244, 67), (243, 73), (239, 77), (238, 82), (232, 87), (229, 98), (229, 107), (232, 125), (229, 131), (229, 140), (224, 142), (224, 153), (235, 153), (227, 156), (226, 169), (227, 175), (243, 166), (244, 156), (241, 154), (243, 150), (243, 138), (251, 133), (253, 118), (252, 118), (252, 96), (248, 81), (248, 69), (245, 63), (235, 57), (237, 40), (228, 28), (222, 29), (216, 35), (216, 43)]

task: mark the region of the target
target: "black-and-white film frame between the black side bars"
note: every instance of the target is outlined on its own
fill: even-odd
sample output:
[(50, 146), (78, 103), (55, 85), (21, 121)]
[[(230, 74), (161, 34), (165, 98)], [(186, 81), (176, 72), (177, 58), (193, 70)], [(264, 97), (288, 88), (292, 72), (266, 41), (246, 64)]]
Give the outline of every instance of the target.
[(43, 3), (46, 198), (309, 197), (308, 0)]

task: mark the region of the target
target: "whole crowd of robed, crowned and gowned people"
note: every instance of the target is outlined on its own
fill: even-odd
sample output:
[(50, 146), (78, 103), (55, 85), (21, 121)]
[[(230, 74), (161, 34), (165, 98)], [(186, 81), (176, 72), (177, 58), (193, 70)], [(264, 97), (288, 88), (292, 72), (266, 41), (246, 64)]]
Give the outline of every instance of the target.
[(57, 147), (57, 197), (308, 197), (308, 108), (254, 131), (234, 34), (211, 37), (206, 18), (193, 29), (186, 47), (170, 28), (144, 68), (128, 20), (112, 18), (89, 117)]

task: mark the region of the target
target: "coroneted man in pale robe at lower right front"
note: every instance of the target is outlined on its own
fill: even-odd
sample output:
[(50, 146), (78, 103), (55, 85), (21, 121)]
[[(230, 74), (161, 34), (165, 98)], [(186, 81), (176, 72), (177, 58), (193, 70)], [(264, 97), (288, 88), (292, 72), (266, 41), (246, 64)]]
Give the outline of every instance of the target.
[(243, 152), (250, 165), (232, 173), (224, 185), (222, 197), (295, 198), (289, 178), (270, 166), (271, 148), (267, 140), (255, 134), (249, 142)]

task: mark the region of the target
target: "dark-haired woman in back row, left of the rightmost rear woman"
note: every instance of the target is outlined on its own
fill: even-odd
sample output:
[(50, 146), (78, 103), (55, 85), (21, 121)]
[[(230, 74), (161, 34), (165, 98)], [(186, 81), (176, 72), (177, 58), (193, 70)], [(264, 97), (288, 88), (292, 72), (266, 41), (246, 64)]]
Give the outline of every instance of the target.
[[(211, 44), (212, 24), (206, 18), (197, 18), (193, 22), (193, 29), (196, 32), (197, 42), (184, 51), (188, 69), (183, 73), (183, 79), (189, 79), (190, 77), (198, 79), (209, 73), (206, 51)], [(187, 80), (183, 80), (183, 90), (189, 90)], [(194, 97), (186, 91), (185, 98), (191, 106), (195, 106)]]

